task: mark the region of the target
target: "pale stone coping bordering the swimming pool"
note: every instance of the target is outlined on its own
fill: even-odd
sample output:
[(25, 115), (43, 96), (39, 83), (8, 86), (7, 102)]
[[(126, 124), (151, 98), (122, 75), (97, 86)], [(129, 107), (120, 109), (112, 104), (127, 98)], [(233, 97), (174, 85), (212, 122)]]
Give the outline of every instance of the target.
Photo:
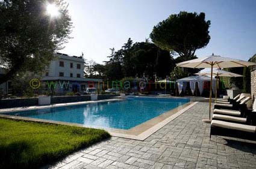
[(104, 129), (109, 132), (111, 136), (114, 137), (122, 137), (122, 138), (130, 138), (133, 140), (145, 140), (150, 135), (154, 134), (160, 128), (162, 128), (167, 123), (174, 120), (176, 117), (183, 114), (185, 111), (189, 110), (189, 108), (193, 107), (193, 105), (198, 102), (187, 102), (186, 104), (180, 105), (172, 110), (169, 110), (160, 116), (154, 117), (140, 125), (134, 126), (131, 129), (116, 129), (116, 128), (102, 128), (100, 126), (92, 126), (92, 125), (82, 125), (78, 123), (69, 123), (69, 122), (60, 122), (54, 120), (45, 120), (45, 119), (34, 119), (31, 117), (21, 117), (21, 116), (10, 116), (2, 113), (15, 112), (15, 111), (25, 111), (25, 110), (38, 110), (43, 108), (52, 108), (52, 107), (63, 107), (69, 105), (80, 105), (80, 104), (91, 104), (96, 102), (108, 102), (108, 101), (122, 101), (122, 99), (105, 99), (100, 101), (83, 101), (83, 102), (70, 102), (64, 104), (53, 104), (53, 105), (44, 105), (44, 106), (32, 106), (32, 107), (19, 107), (19, 108), (5, 108), (0, 110), (0, 117), (8, 118), (8, 119), (17, 119), (17, 120), (29, 120), (33, 122), (44, 122), (44, 123), (54, 123), (58, 125), (70, 125), (70, 126), (79, 126), (86, 128), (96, 128), (96, 129)]

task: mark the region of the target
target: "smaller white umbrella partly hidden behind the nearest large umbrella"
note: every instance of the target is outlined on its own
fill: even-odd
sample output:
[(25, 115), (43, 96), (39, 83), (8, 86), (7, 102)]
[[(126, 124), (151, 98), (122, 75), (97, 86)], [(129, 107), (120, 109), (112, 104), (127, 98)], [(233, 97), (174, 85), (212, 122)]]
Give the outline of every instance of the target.
[[(211, 71), (205, 71), (202, 73), (196, 73), (199, 76), (211, 76)], [(243, 77), (240, 74), (231, 73), (229, 71), (223, 71), (223, 70), (213, 70), (213, 76), (215, 77)], [(215, 102), (217, 100), (217, 85), (215, 87)]]

